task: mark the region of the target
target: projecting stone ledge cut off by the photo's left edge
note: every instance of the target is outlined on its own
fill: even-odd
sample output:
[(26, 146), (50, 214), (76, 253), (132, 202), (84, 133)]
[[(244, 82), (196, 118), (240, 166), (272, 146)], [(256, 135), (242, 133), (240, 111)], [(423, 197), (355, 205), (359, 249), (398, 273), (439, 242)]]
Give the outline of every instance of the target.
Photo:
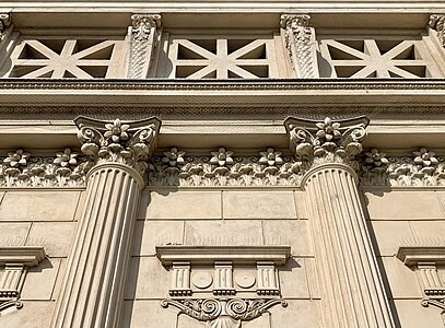
[(2, 246), (0, 247), (0, 265), (20, 263), (32, 268), (45, 259), (43, 246)]

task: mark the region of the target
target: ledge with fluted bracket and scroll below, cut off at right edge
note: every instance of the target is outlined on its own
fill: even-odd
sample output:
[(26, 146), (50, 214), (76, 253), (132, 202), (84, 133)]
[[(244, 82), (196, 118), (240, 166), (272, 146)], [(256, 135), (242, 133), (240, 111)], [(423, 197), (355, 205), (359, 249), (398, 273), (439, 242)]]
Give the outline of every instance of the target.
[(423, 292), (421, 304), (440, 308), (445, 326), (445, 281), (437, 270), (445, 265), (445, 246), (401, 246), (397, 258), (415, 270)]

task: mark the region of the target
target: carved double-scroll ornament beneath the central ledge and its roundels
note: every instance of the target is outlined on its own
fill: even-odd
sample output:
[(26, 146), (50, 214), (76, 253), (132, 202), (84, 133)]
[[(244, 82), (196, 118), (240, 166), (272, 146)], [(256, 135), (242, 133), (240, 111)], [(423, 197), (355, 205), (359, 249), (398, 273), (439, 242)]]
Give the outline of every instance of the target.
[(174, 306), (191, 318), (206, 321), (209, 328), (241, 328), (242, 321), (258, 318), (278, 304), (288, 306), (282, 298), (197, 298), (161, 302), (163, 307)]

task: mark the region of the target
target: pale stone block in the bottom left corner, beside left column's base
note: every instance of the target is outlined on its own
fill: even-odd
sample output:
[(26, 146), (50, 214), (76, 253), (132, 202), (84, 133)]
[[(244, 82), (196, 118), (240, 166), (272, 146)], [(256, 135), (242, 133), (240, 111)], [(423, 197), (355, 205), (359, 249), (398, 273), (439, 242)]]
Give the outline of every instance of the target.
[(51, 321), (54, 302), (23, 302), (23, 308), (10, 307), (0, 316), (0, 327), (47, 328)]

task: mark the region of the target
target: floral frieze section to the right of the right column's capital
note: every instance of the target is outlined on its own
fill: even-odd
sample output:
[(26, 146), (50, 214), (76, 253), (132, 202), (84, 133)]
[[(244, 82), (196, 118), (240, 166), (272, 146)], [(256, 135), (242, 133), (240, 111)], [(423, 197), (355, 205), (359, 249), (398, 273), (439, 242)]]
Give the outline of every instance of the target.
[(425, 148), (411, 156), (387, 156), (377, 149), (364, 154), (362, 186), (445, 186), (445, 157)]

